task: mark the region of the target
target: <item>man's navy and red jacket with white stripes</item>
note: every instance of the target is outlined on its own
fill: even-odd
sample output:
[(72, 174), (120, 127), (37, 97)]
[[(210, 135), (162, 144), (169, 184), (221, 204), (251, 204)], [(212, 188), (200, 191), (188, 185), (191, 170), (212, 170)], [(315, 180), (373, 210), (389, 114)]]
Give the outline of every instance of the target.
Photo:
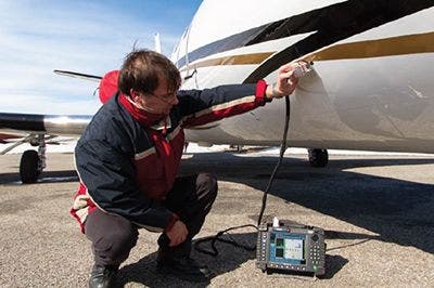
[(113, 96), (94, 115), (75, 149), (80, 186), (71, 213), (81, 230), (97, 207), (151, 231), (170, 226), (176, 215), (161, 200), (178, 171), (183, 128), (265, 105), (265, 81), (259, 81), (179, 91), (179, 103), (164, 119), (166, 127), (137, 118), (125, 95)]

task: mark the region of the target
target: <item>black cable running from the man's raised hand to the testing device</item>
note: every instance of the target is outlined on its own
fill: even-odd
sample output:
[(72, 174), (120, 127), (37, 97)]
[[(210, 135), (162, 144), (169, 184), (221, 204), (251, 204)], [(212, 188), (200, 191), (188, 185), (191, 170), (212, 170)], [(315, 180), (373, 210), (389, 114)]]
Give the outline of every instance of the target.
[[(216, 256), (218, 256), (218, 250), (217, 250), (217, 248), (216, 248), (216, 241), (230, 244), (230, 245), (233, 245), (233, 246), (235, 246), (235, 247), (243, 248), (243, 249), (246, 250), (246, 251), (254, 251), (254, 250), (256, 250), (256, 246), (253, 246), (253, 247), (252, 247), (252, 246), (246, 246), (246, 245), (242, 245), (242, 244), (237, 243), (237, 241), (230, 236), (230, 234), (229, 234), (228, 232), (231, 231), (231, 230), (243, 228), (243, 227), (255, 227), (256, 230), (258, 230), (258, 226), (260, 225), (260, 222), (261, 222), (263, 215), (264, 215), (264, 211), (265, 211), (265, 208), (266, 208), (266, 206), (267, 206), (267, 196), (268, 196), (268, 192), (269, 192), (269, 189), (270, 189), (270, 187), (271, 187), (272, 181), (275, 180), (276, 173), (277, 173), (277, 171), (278, 171), (278, 169), (279, 169), (281, 162), (282, 162), (283, 155), (284, 155), (284, 153), (285, 153), (285, 150), (286, 150), (286, 136), (288, 136), (288, 129), (289, 129), (289, 127), (290, 127), (290, 116), (291, 116), (290, 96), (285, 96), (285, 110), (286, 110), (286, 112), (285, 112), (285, 125), (284, 125), (284, 130), (283, 130), (283, 139), (282, 139), (282, 142), (281, 142), (281, 145), (280, 145), (279, 160), (278, 160), (278, 162), (277, 162), (277, 165), (276, 165), (276, 167), (275, 167), (275, 170), (273, 170), (272, 173), (271, 173), (271, 176), (270, 176), (270, 179), (269, 179), (269, 181), (268, 181), (267, 187), (265, 188), (265, 192), (264, 192), (264, 195), (263, 195), (263, 204), (261, 204), (261, 206), (260, 206), (260, 212), (259, 212), (259, 215), (258, 215), (257, 226), (255, 226), (255, 225), (253, 225), (253, 224), (246, 224), (246, 225), (233, 226), (233, 227), (229, 227), (229, 228), (227, 228), (227, 230), (220, 231), (220, 232), (218, 232), (218, 233), (217, 233), (216, 235), (214, 235), (214, 236), (205, 237), (205, 238), (203, 238), (203, 239), (200, 239), (200, 240), (195, 241), (195, 243), (194, 243), (194, 249), (195, 249), (196, 251), (199, 251), (199, 252), (201, 252), (201, 253), (205, 253), (205, 254), (209, 254), (209, 256), (216, 257)], [(226, 233), (231, 239), (221, 238), (221, 236), (222, 236), (225, 233)], [(210, 247), (212, 247), (213, 251), (206, 250), (206, 249), (203, 249), (203, 248), (200, 247), (200, 244), (206, 243), (206, 241), (210, 241)]]

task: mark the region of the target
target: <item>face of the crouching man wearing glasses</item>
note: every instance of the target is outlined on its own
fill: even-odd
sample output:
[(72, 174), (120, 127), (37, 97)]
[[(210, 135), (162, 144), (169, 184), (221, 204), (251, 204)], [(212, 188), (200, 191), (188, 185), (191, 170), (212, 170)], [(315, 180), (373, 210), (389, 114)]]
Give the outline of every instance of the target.
[(154, 114), (168, 115), (174, 105), (178, 104), (177, 91), (168, 91), (167, 81), (158, 77), (158, 87), (152, 93), (131, 93), (132, 100), (144, 109)]

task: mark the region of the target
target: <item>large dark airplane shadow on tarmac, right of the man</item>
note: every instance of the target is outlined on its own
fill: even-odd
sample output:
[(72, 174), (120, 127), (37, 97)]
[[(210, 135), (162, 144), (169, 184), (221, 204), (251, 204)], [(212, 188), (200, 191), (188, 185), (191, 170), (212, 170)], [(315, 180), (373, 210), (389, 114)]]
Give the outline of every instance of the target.
[[(214, 172), (220, 181), (265, 191), (278, 157), (195, 154), (181, 165), (182, 173)], [(433, 163), (433, 158), (340, 159), (326, 168), (285, 158), (270, 195), (316, 210), (378, 234), (378, 240), (412, 246), (434, 253), (434, 185), (346, 171), (361, 167)], [(385, 168), (387, 169), (387, 168)], [(340, 234), (337, 234), (340, 235)], [(341, 235), (342, 236), (342, 235)]]

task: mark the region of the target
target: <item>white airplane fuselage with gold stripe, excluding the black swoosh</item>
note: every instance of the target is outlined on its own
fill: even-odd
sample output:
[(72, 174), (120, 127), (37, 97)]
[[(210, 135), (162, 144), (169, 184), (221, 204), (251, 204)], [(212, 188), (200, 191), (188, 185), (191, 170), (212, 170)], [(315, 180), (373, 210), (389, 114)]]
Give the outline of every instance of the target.
[[(225, 39), (230, 45), (230, 37), (248, 29), (344, 2), (350, 1), (204, 1), (173, 54), (182, 77), (192, 76), (182, 88), (243, 82), (276, 52), (296, 47), (317, 30), (218, 53), (206, 53), (204, 47), (221, 47)], [(315, 63), (291, 95), (289, 145), (434, 153), (433, 18), (434, 6), (429, 6), (288, 58)], [(278, 67), (264, 76), (268, 82), (275, 81)], [(209, 126), (214, 128), (189, 130), (187, 136), (215, 144), (276, 145), (284, 106), (275, 100)]]

